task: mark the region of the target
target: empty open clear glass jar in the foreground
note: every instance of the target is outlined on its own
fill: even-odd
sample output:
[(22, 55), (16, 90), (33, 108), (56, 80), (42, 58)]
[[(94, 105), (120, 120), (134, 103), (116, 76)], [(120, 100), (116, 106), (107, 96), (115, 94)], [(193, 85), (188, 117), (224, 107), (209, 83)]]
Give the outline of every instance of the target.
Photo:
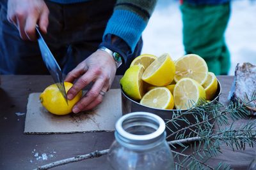
[(159, 116), (147, 112), (124, 115), (116, 122), (115, 139), (108, 153), (113, 169), (174, 169), (165, 124)]

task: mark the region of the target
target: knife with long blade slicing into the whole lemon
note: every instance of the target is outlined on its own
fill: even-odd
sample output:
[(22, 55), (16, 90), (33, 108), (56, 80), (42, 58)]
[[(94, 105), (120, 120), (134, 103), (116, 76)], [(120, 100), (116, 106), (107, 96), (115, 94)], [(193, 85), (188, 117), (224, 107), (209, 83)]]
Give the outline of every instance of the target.
[(66, 103), (68, 104), (67, 93), (64, 86), (64, 81), (62, 77), (62, 72), (60, 66), (54, 56), (52, 55), (51, 51), (49, 50), (48, 46), (46, 45), (44, 38), (39, 30), (38, 25), (36, 25), (36, 33), (38, 35), (38, 45), (40, 51), (42, 53), (42, 58), (44, 60), (44, 64), (47, 67), (48, 71), (50, 72), (54, 82), (58, 86), (62, 96), (64, 97)]

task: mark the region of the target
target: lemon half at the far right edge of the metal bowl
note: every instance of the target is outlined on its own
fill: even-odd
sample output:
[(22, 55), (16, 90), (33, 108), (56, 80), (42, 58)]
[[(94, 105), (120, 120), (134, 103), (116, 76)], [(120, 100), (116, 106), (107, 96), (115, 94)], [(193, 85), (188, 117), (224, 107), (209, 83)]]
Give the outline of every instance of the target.
[(218, 81), (214, 73), (209, 72), (207, 76), (207, 80), (203, 84), (205, 89), (206, 100), (212, 100), (213, 97), (216, 95), (216, 91), (218, 89)]

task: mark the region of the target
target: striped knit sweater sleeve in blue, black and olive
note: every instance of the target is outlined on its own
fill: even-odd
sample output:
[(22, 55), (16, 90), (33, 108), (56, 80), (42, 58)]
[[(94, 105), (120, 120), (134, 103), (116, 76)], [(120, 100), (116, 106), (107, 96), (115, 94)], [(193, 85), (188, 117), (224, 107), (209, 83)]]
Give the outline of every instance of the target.
[(122, 38), (133, 52), (155, 6), (156, 0), (117, 0), (104, 36)]

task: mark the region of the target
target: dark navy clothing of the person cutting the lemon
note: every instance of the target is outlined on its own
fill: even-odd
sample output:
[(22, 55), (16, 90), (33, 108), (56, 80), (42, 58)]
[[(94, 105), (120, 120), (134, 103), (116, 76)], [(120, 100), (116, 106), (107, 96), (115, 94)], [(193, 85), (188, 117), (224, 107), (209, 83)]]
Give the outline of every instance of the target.
[[(64, 74), (95, 52), (102, 42), (115, 1), (99, 0), (75, 4), (45, 1), (49, 26), (45, 41)], [(141, 52), (142, 40), (116, 74), (124, 74), (131, 60)], [(38, 43), (20, 39), (17, 28), (6, 18), (6, 1), (0, 4), (0, 74), (49, 74)]]

